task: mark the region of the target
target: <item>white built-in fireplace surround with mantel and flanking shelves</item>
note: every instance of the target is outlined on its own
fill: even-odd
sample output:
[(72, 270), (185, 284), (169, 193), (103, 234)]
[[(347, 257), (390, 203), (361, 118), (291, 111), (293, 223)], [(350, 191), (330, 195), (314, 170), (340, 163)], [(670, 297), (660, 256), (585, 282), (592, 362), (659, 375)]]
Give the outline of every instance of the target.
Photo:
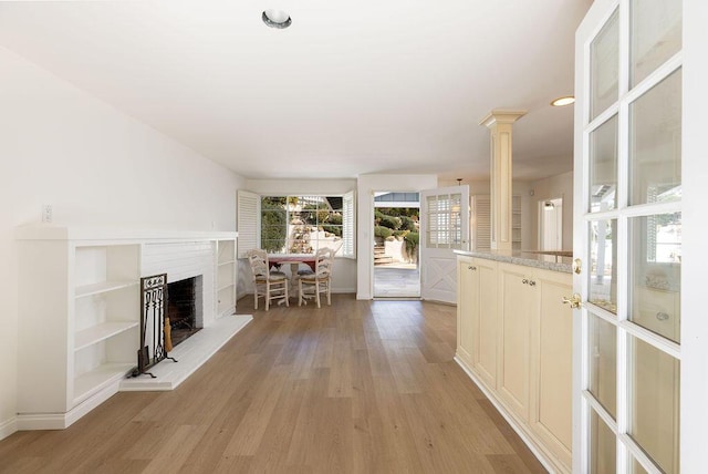
[[(21, 430), (66, 427), (118, 391), (137, 365), (139, 281), (153, 275), (153, 267), (169, 268), (174, 276), (180, 271), (208, 276), (206, 324), (236, 312), (236, 233), (43, 225), (20, 227), (15, 237)], [(147, 246), (154, 251), (150, 267), (144, 268)], [(204, 267), (194, 257), (201, 255), (200, 249), (206, 249)], [(165, 255), (162, 264), (159, 255)]]

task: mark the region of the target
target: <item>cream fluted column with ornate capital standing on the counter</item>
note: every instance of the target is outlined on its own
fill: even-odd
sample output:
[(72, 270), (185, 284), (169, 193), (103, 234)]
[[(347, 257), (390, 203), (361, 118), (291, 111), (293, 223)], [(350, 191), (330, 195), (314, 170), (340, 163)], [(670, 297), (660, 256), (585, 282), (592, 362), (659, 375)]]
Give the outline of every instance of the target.
[(511, 127), (527, 111), (493, 110), (479, 123), (491, 132), (491, 248), (511, 250)]

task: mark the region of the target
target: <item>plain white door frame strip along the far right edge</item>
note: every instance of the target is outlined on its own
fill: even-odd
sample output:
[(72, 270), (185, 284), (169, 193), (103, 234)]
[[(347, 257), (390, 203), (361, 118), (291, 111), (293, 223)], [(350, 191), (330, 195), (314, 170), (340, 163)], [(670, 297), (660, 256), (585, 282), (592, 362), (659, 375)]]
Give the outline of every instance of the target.
[[(706, 106), (708, 103), (708, 2), (684, 2), (684, 84), (681, 175), (684, 182), (681, 264), (681, 396), (680, 463), (684, 472), (706, 467), (705, 429), (708, 426), (708, 318), (705, 317), (706, 202), (708, 202), (708, 159), (706, 159)], [(686, 258), (688, 257), (688, 258)]]

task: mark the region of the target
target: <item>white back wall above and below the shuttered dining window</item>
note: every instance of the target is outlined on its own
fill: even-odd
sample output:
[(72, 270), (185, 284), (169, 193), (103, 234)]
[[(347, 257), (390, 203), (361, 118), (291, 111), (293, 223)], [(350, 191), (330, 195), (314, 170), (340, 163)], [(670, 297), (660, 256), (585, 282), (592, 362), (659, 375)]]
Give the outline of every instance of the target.
[[(341, 195), (356, 189), (356, 179), (248, 179), (243, 189), (252, 193), (283, 195)], [(360, 220), (361, 221), (361, 220)], [(332, 269), (332, 291), (356, 291), (356, 260), (336, 258)], [(252, 292), (251, 272), (247, 260), (239, 260), (238, 296)]]

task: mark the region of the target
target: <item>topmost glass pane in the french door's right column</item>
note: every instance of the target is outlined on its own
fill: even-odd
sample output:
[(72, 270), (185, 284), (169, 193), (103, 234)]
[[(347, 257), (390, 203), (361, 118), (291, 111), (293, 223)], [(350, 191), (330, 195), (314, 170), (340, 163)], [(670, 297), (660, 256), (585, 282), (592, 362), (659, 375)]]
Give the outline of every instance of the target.
[(680, 0), (633, 0), (632, 87), (681, 49)]

